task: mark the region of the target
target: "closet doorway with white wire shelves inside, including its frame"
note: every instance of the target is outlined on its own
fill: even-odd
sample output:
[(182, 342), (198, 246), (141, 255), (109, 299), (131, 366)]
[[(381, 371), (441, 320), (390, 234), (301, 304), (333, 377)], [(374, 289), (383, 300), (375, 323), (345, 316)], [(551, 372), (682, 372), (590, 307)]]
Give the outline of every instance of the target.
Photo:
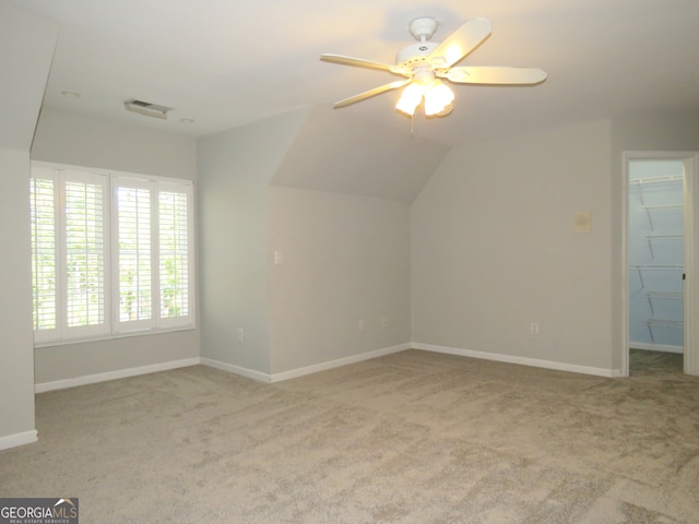
[(699, 374), (692, 311), (695, 271), (695, 153), (625, 153), (626, 345), (631, 350), (682, 354), (686, 373)]

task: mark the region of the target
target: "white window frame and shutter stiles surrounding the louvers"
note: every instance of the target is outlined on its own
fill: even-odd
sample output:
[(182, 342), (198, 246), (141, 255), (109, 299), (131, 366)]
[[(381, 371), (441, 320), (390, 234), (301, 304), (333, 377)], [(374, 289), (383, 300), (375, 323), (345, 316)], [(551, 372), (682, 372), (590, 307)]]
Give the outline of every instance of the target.
[[(61, 172), (70, 174), (80, 180), (103, 180), (103, 219), (104, 219), (104, 324), (72, 326), (67, 323), (68, 302), (66, 286), (68, 283), (66, 257), (66, 181)], [(47, 177), (51, 174), (51, 177)], [(56, 266), (56, 329), (33, 330), (35, 347), (58, 346), (88, 341), (121, 338), (152, 333), (186, 331), (196, 327), (196, 212), (194, 182), (189, 179), (168, 178), (141, 175), (137, 172), (95, 169), (83, 166), (72, 166), (42, 160), (32, 160), (31, 179), (42, 178), (54, 181), (54, 214), (55, 214), (55, 266)], [(118, 206), (117, 190), (119, 184), (126, 187), (146, 187), (151, 191), (151, 319), (146, 321), (121, 321), (119, 319), (119, 243), (118, 243)], [(175, 318), (159, 318), (161, 288), (158, 278), (158, 195), (161, 192), (176, 192), (186, 195), (187, 215), (187, 314)], [(32, 209), (34, 202), (32, 202)], [(32, 217), (34, 221), (34, 217)], [(34, 227), (34, 226), (33, 226)], [(154, 236), (155, 235), (155, 236)], [(34, 283), (34, 243), (32, 245), (32, 282)], [(59, 276), (60, 275), (60, 276)], [(36, 295), (32, 290), (33, 303)], [(33, 306), (34, 315), (34, 306)], [(34, 322), (33, 322), (34, 325)]]

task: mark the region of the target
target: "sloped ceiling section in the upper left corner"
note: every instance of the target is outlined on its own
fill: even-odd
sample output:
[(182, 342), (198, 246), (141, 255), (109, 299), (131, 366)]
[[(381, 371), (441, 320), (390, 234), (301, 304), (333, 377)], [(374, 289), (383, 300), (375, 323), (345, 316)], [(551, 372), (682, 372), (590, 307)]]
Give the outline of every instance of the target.
[(0, 146), (29, 150), (57, 40), (55, 23), (0, 3)]

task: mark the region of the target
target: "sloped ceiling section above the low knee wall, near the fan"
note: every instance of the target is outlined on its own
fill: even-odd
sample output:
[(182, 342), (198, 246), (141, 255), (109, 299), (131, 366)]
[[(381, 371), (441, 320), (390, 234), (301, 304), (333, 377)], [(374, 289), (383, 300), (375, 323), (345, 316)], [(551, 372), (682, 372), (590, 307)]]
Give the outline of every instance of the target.
[(411, 203), (449, 147), (341, 110), (313, 107), (272, 186)]

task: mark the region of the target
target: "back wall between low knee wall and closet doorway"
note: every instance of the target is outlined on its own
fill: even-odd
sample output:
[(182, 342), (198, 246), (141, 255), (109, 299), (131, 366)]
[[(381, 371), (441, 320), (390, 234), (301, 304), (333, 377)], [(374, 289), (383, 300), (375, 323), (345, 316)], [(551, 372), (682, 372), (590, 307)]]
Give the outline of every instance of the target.
[(609, 158), (608, 121), (453, 148), (412, 209), (413, 342), (616, 368)]

